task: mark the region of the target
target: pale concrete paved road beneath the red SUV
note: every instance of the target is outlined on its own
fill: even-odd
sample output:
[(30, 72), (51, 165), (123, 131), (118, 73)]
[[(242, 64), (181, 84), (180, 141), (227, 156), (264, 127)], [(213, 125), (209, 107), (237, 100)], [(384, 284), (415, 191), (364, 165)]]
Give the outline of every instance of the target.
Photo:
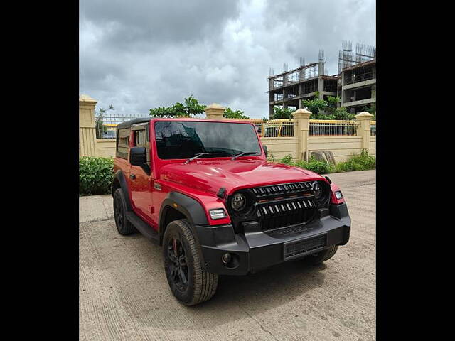
[(329, 176), (353, 220), (336, 256), (221, 276), (195, 307), (173, 298), (160, 247), (117, 233), (112, 197), (81, 197), (80, 340), (375, 340), (375, 171)]

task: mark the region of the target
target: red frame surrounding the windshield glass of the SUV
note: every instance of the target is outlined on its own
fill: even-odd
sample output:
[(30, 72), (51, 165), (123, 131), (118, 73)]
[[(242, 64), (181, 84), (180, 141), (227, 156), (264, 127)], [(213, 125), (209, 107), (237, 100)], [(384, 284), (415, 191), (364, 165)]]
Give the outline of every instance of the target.
[[(256, 155), (245, 155), (245, 156), (240, 156), (236, 158), (235, 160), (239, 160), (242, 158), (250, 158), (250, 159), (265, 159), (265, 153), (264, 153), (264, 148), (262, 146), (262, 141), (259, 139), (259, 135), (257, 134), (257, 130), (255, 129), (255, 124), (252, 124), (251, 122), (239, 122), (239, 121), (232, 121), (229, 119), (223, 120), (223, 121), (215, 121), (215, 120), (206, 120), (206, 119), (151, 119), (151, 129), (150, 129), (150, 141), (153, 141), (153, 151), (154, 151), (154, 158), (156, 160), (161, 161), (160, 163), (176, 163), (176, 162), (183, 162), (188, 160), (188, 158), (160, 158), (159, 153), (158, 153), (158, 146), (156, 144), (156, 138), (155, 138), (155, 126), (156, 123), (161, 122), (161, 121), (176, 121), (176, 122), (194, 122), (194, 123), (203, 123), (203, 124), (212, 124), (212, 123), (221, 123), (221, 124), (248, 124), (252, 126), (252, 131), (256, 135), (257, 139), (257, 144), (259, 146), (259, 151), (257, 151)], [(196, 154), (195, 154), (196, 155)], [(213, 160), (213, 159), (218, 159), (218, 160), (230, 160), (232, 158), (232, 155), (229, 156), (204, 156), (200, 157), (197, 160), (198, 161), (203, 161), (203, 160)]]

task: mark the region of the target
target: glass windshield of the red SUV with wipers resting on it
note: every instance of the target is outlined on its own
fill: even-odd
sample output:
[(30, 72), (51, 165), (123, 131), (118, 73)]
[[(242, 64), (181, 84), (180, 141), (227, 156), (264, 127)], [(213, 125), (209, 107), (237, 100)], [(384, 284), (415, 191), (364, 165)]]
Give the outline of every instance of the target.
[(161, 159), (191, 158), (199, 153), (200, 158), (235, 156), (243, 152), (257, 156), (262, 153), (255, 127), (251, 124), (157, 121), (155, 139), (158, 157)]

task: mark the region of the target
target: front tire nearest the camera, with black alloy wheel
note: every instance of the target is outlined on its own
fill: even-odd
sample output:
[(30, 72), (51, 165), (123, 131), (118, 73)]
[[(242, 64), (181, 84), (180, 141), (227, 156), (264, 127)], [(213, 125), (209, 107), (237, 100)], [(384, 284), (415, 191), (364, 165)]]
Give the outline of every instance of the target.
[(163, 238), (164, 271), (173, 296), (183, 305), (208, 301), (218, 286), (218, 274), (202, 268), (199, 248), (188, 220), (168, 224)]

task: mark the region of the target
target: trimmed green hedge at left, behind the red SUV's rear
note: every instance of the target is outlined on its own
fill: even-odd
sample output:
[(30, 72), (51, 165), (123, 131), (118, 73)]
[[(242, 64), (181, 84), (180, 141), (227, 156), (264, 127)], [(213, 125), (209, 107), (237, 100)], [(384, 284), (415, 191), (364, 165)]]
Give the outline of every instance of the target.
[(79, 158), (79, 195), (109, 194), (114, 178), (114, 158)]

